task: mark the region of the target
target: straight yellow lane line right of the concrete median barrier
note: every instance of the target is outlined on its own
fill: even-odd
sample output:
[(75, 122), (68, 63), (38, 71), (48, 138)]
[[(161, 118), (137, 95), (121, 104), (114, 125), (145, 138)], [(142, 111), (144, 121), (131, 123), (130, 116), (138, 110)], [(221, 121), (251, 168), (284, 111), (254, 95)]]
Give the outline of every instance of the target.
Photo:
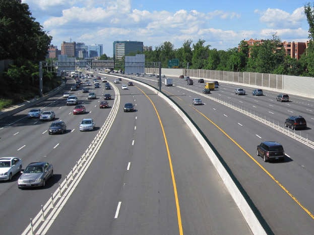
[[(193, 107), (194, 108), (194, 107)], [(246, 153), (247, 156), (249, 156), (253, 161), (255, 161), (258, 166), (260, 166), (269, 176), (272, 178), (312, 219), (314, 219), (314, 216), (311, 212), (309, 212), (302, 204), (282, 185), (273, 177), (273, 175), (268, 172), (257, 160), (255, 160), (248, 152), (246, 152), (238, 143), (236, 143), (230, 136), (228, 136), (227, 133), (225, 133), (220, 127), (218, 127), (215, 123), (213, 123), (207, 116), (205, 116), (202, 112), (194, 108), (197, 112), (199, 112), (201, 115), (204, 116), (209, 122), (211, 122), (215, 127), (217, 127), (223, 134), (225, 134), (233, 143), (235, 143), (244, 153)]]

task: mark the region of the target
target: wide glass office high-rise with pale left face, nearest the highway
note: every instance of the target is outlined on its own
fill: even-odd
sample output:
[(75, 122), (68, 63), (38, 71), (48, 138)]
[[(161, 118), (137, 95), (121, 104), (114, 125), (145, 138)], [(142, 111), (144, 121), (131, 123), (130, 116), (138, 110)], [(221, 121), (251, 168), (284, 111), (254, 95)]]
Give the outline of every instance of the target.
[(143, 42), (139, 41), (114, 41), (113, 42), (113, 58), (121, 60), (123, 56), (130, 52), (143, 53)]

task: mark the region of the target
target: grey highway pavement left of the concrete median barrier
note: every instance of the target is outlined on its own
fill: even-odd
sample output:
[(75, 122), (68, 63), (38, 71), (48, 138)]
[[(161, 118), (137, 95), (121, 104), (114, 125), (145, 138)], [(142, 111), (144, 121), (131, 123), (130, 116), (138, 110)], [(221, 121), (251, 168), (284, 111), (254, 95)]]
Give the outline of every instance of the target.
[[(41, 234), (252, 234), (204, 150), (174, 110), (142, 86), (121, 90), (126, 81), (113, 84), (114, 77), (106, 77), (118, 89), (109, 101), (112, 108), (119, 100), (118, 113), (83, 177), (70, 186), (74, 191), (67, 203)], [(65, 90), (73, 83), (68, 79)], [(22, 158), (23, 168), (33, 161), (54, 166), (45, 188), (19, 190), (19, 175), (0, 182), (0, 199), (6, 202), (0, 212), (2, 233), (27, 230), (30, 218), (40, 214), (40, 206), (57, 192), (105, 123), (111, 108), (99, 109), (99, 101), (104, 93), (115, 92), (104, 90), (102, 83), (91, 90), (96, 100), (87, 100), (88, 93), (81, 89), (73, 92), (86, 106), (85, 114), (73, 115), (74, 106), (65, 105), (62, 93), (36, 105), (53, 110), (56, 120), (67, 124), (63, 135), (48, 135), (50, 122), (25, 118), (28, 110), (0, 121), (2, 156)], [(126, 102), (134, 103), (136, 111), (123, 112)], [(83, 118), (95, 120), (94, 131), (79, 131)]]

